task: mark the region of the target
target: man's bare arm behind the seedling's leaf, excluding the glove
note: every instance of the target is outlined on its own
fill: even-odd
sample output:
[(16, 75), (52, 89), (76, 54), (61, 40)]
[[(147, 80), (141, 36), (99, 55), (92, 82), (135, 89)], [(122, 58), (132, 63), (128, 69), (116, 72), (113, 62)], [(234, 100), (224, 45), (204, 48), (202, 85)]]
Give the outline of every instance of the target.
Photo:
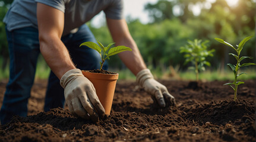
[(127, 46), (132, 49), (132, 51), (124, 51), (118, 54), (125, 66), (127, 66), (135, 76), (141, 70), (147, 69), (137, 44), (129, 33), (127, 22), (125, 20), (112, 20), (107, 18), (107, 23), (116, 46)]

